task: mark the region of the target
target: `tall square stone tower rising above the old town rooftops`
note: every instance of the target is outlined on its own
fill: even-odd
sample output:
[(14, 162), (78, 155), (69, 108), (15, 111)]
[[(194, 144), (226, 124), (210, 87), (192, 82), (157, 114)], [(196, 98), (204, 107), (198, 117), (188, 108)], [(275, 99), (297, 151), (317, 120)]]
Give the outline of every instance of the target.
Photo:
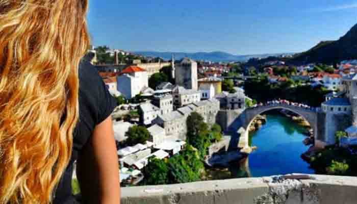
[(198, 89), (197, 62), (184, 58), (180, 63), (175, 64), (174, 72), (176, 85), (186, 89)]

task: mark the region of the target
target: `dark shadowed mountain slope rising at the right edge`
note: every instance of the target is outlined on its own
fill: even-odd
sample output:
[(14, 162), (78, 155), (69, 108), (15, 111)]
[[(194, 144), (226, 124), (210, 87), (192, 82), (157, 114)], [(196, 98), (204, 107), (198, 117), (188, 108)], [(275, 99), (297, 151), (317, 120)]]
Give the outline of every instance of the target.
[(290, 62), (335, 64), (350, 59), (357, 59), (357, 24), (339, 40), (321, 41), (307, 52), (296, 54)]

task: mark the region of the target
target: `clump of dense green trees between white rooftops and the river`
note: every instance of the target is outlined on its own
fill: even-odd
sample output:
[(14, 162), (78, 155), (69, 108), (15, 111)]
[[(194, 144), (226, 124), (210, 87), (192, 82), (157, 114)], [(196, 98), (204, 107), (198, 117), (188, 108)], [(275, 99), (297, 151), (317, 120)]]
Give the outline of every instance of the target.
[[(177, 184), (200, 181), (205, 173), (203, 158), (207, 155), (208, 147), (212, 142), (222, 139), (221, 127), (208, 124), (196, 112), (187, 118), (188, 133), (187, 146), (180, 154), (168, 160), (150, 159), (145, 167), (145, 185)], [(189, 125), (190, 124), (190, 125)]]

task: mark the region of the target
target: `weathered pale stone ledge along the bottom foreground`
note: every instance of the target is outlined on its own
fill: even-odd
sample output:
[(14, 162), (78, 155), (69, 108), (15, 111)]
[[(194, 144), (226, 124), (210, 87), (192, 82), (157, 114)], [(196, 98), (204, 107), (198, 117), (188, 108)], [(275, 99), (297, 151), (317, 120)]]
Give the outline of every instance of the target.
[(122, 204), (337, 204), (357, 203), (357, 177), (310, 175), (311, 180), (256, 177), (127, 187)]

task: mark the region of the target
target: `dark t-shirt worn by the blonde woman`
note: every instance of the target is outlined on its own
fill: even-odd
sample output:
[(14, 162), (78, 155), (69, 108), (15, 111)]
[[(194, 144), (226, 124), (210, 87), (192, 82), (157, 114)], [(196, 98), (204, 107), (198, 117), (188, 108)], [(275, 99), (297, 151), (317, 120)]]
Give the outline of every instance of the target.
[(108, 118), (117, 105), (117, 101), (110, 95), (97, 69), (89, 62), (81, 62), (79, 81), (80, 117), (73, 133), (71, 159), (58, 185), (54, 204), (78, 203), (72, 195), (71, 188), (73, 162), (78, 159), (82, 148), (92, 136), (94, 127)]

